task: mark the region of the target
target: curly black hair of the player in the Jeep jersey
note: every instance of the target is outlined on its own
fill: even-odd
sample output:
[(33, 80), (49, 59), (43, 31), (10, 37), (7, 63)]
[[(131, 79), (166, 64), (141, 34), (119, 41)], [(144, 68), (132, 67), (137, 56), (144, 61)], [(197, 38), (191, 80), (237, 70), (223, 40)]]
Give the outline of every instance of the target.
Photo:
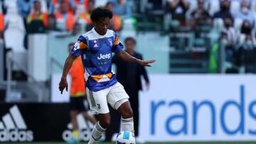
[(100, 18), (112, 18), (113, 13), (108, 9), (96, 8), (92, 10), (92, 14), (90, 16), (92, 21), (98, 21)]

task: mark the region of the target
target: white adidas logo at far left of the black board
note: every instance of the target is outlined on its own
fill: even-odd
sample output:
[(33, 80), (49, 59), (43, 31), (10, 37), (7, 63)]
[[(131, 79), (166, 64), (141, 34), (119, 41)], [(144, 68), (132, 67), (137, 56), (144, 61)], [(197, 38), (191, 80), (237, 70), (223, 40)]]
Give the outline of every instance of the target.
[(9, 111), (0, 121), (0, 142), (33, 141), (33, 132), (27, 130), (18, 106), (12, 106)]

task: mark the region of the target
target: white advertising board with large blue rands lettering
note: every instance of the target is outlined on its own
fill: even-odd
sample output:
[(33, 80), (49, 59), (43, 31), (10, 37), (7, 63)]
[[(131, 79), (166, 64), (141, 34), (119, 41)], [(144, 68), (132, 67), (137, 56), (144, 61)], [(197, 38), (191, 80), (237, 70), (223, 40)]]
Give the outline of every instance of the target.
[(256, 141), (256, 75), (154, 74), (142, 92), (146, 141)]

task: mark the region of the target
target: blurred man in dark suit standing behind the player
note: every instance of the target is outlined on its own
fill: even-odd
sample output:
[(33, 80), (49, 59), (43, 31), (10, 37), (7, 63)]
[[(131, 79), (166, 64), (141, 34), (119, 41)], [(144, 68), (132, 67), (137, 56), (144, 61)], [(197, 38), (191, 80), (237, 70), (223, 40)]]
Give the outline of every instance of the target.
[[(136, 57), (139, 60), (143, 60), (142, 54), (136, 52), (136, 40), (132, 37), (128, 37), (124, 40), (125, 51)], [(113, 57), (112, 62), (117, 66), (117, 80), (124, 86), (125, 92), (130, 96), (129, 101), (134, 113), (134, 130), (135, 136), (139, 134), (139, 91), (142, 90), (142, 79), (144, 77), (146, 82), (146, 90), (149, 90), (149, 77), (147, 75), (145, 67), (137, 63), (126, 62), (116, 55)], [(119, 133), (119, 121), (120, 115), (117, 113), (117, 118), (114, 118), (112, 123), (116, 133)]]

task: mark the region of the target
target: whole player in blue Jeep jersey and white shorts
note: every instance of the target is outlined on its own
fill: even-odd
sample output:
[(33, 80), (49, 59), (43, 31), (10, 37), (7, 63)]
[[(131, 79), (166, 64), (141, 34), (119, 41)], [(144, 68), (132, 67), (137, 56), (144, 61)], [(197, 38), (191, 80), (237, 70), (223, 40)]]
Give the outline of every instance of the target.
[(116, 109), (122, 116), (122, 131), (134, 133), (132, 108), (129, 104), (129, 96), (124, 91), (122, 84), (112, 72), (112, 52), (127, 62), (137, 62), (140, 65), (151, 67), (150, 63), (156, 60), (139, 60), (132, 57), (123, 49), (122, 43), (112, 30), (107, 27), (112, 18), (112, 11), (96, 8), (92, 10), (91, 20), (94, 28), (80, 35), (73, 50), (65, 61), (63, 76), (60, 80), (59, 90), (68, 90), (66, 80), (68, 71), (76, 57), (82, 57), (85, 68), (86, 94), (90, 109), (97, 113), (99, 121), (92, 130), (92, 136), (88, 144), (100, 140), (102, 133), (110, 125), (110, 110), (107, 103)]

